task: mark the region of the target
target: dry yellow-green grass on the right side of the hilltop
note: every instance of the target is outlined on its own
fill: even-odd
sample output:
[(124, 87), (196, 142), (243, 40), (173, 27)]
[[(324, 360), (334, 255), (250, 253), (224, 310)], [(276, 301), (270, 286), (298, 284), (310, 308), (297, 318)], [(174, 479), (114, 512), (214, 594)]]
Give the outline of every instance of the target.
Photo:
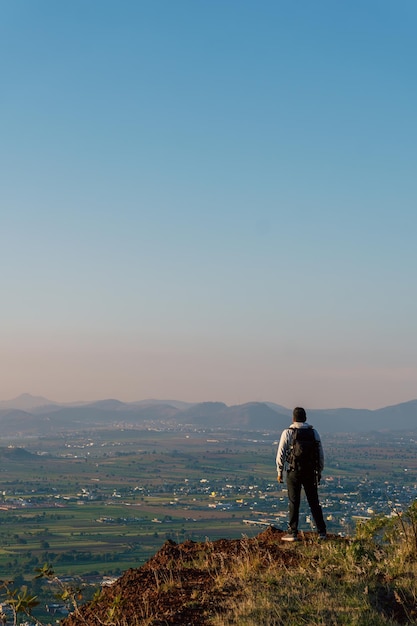
[(291, 566), (245, 555), (218, 577), (236, 592), (211, 626), (417, 624), (417, 506), (375, 518), (351, 541), (296, 545)]

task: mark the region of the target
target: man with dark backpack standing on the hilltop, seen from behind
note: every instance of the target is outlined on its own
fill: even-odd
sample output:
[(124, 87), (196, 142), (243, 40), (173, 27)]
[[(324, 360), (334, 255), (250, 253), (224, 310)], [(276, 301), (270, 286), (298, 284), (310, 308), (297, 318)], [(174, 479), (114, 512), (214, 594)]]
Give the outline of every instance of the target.
[(285, 471), (288, 488), (289, 532), (283, 536), (283, 541), (298, 539), (301, 487), (304, 488), (319, 538), (326, 538), (326, 524), (317, 490), (324, 467), (323, 447), (319, 433), (306, 419), (305, 410), (297, 406), (293, 411), (293, 423), (283, 431), (277, 451), (278, 482), (283, 482)]

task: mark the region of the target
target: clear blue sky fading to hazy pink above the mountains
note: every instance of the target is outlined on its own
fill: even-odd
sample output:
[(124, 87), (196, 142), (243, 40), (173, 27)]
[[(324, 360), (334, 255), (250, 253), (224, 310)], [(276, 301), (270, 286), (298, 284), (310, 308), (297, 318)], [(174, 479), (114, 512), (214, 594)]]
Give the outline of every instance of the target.
[(417, 398), (415, 0), (0, 4), (0, 399)]

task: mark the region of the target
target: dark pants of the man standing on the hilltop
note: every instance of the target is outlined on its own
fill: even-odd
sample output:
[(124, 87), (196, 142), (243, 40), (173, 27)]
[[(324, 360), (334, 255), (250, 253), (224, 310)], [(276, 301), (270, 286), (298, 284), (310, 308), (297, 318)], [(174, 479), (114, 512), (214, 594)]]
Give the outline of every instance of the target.
[(287, 472), (287, 488), (289, 503), (289, 521), (288, 526), (290, 532), (297, 534), (298, 518), (300, 515), (300, 498), (301, 487), (304, 487), (307, 502), (310, 507), (311, 515), (316, 524), (317, 532), (324, 534), (326, 532), (326, 523), (323, 518), (323, 511), (319, 503), (317, 492), (317, 477), (313, 472), (297, 472), (291, 470)]

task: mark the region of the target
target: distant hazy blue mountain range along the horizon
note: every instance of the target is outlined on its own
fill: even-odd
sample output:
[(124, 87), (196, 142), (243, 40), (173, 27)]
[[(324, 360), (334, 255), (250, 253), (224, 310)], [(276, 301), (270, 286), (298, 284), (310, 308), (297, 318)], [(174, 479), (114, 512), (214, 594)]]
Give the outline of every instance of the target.
[[(311, 409), (308, 421), (322, 432), (417, 430), (417, 400), (382, 409)], [(223, 402), (188, 403), (170, 400), (60, 404), (22, 394), (0, 402), (0, 437), (36, 436), (84, 429), (180, 427), (281, 432), (292, 410), (273, 402), (227, 406)]]

